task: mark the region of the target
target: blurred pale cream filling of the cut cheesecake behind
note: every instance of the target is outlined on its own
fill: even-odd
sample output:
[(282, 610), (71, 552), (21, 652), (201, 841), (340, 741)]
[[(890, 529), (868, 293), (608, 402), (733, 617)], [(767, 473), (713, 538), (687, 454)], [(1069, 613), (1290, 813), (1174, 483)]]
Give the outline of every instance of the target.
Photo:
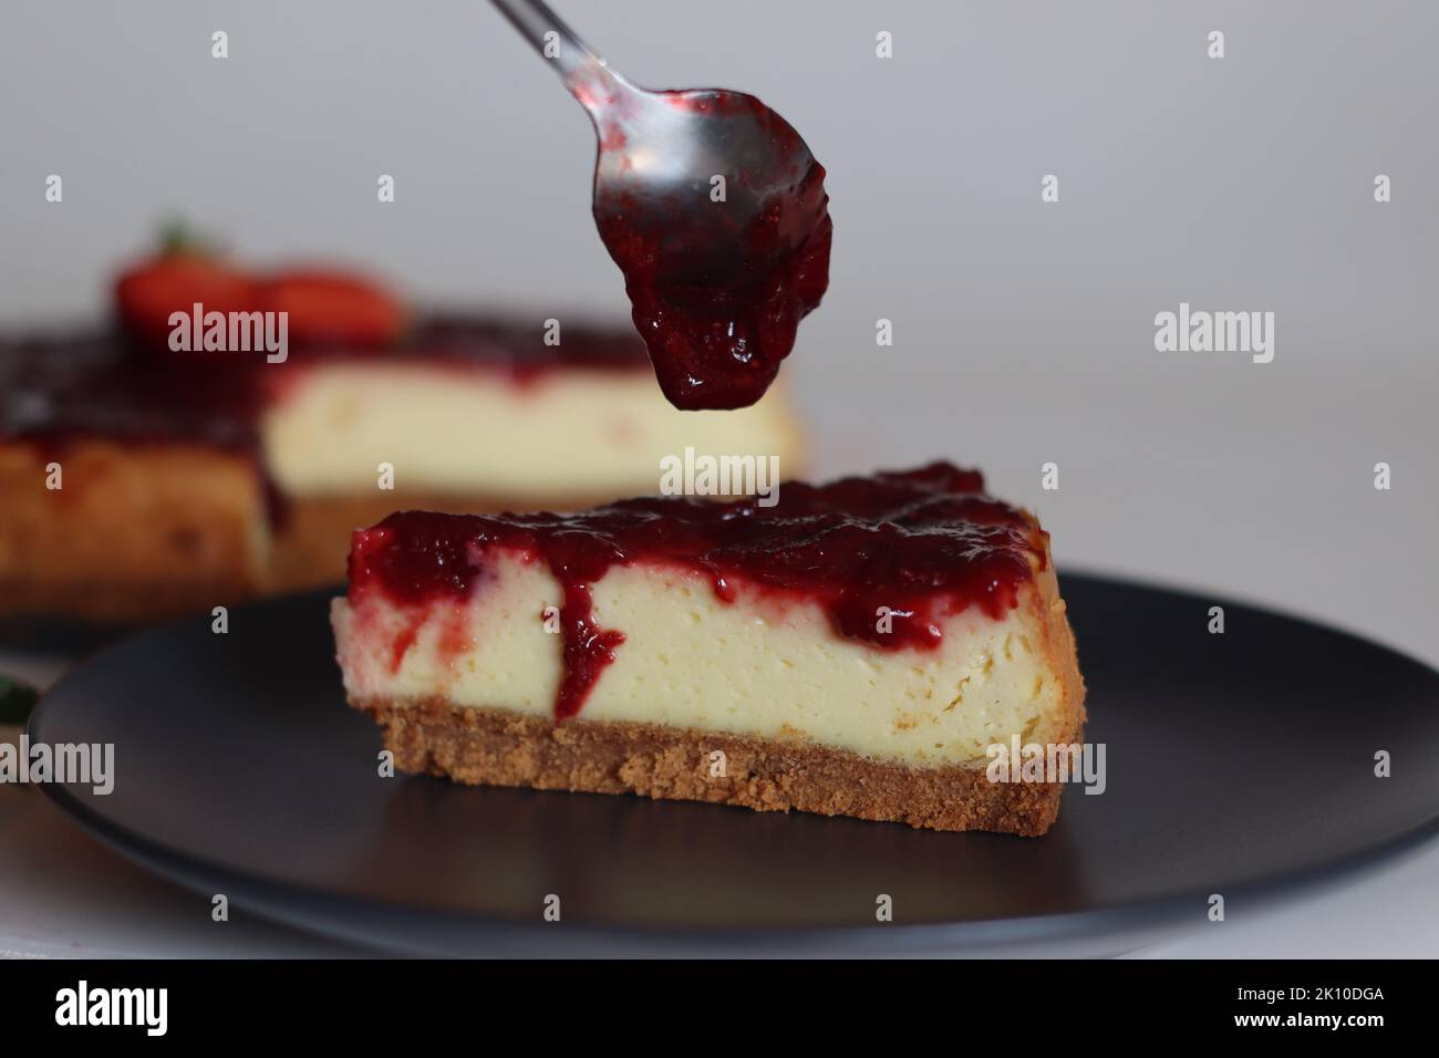
[(288, 495), (373, 492), (380, 464), (400, 489), (554, 502), (658, 491), (663, 456), (802, 452), (774, 393), (738, 412), (679, 412), (648, 370), (532, 377), (443, 363), (341, 361), (288, 381), (260, 420), (265, 461)]

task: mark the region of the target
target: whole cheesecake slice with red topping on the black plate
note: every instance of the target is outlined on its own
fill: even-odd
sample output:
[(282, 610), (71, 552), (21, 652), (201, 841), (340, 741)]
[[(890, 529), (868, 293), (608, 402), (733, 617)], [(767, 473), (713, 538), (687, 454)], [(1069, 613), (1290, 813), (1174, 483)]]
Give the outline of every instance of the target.
[(1036, 520), (947, 464), (778, 502), (394, 514), (332, 610), (350, 702), (465, 783), (1043, 833), (1055, 782), (991, 747), (1081, 738)]

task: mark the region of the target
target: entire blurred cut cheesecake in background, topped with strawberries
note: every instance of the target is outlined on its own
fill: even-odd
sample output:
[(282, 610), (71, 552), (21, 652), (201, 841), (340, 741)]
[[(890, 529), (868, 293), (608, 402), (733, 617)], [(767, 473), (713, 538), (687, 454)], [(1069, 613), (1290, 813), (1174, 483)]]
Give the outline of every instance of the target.
[[(196, 302), (285, 312), (286, 356), (174, 350)], [(560, 321), (550, 344), (538, 317), (417, 314), (363, 276), (189, 248), (130, 269), (117, 308), (114, 330), (0, 335), (0, 615), (132, 622), (334, 583), (350, 533), (396, 508), (577, 510), (656, 491), (686, 446), (803, 459), (781, 393), (679, 412), (623, 327)]]

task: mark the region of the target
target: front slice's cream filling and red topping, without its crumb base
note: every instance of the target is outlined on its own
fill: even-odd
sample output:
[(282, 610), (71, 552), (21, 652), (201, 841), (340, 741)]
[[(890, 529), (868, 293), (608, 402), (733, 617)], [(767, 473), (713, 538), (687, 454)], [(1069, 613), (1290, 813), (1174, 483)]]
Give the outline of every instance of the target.
[(1072, 656), (1048, 535), (983, 489), (930, 464), (791, 482), (777, 505), (393, 514), (351, 541), (340, 662), (361, 702), (981, 760), (1061, 734)]

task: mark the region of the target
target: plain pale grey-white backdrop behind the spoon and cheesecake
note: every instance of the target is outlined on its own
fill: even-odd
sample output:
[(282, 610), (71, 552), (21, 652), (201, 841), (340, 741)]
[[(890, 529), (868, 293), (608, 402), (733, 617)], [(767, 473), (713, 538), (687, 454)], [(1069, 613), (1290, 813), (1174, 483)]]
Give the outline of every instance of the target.
[[(557, 7), (640, 83), (760, 95), (829, 168), (830, 292), (786, 369), (820, 472), (979, 465), (1038, 510), (1061, 567), (1239, 596), (1439, 664), (1439, 7)], [(0, 322), (98, 318), (117, 263), (173, 214), (249, 261), (358, 263), (419, 301), (623, 320), (587, 212), (593, 151), (478, 0), (9, 0)], [(1180, 301), (1274, 311), (1274, 363), (1156, 353), (1154, 314)], [(1058, 492), (1039, 487), (1049, 461)], [(1338, 953), (1350, 928), (1363, 950), (1436, 954), (1436, 888), (1430, 854), (1181, 950)]]

